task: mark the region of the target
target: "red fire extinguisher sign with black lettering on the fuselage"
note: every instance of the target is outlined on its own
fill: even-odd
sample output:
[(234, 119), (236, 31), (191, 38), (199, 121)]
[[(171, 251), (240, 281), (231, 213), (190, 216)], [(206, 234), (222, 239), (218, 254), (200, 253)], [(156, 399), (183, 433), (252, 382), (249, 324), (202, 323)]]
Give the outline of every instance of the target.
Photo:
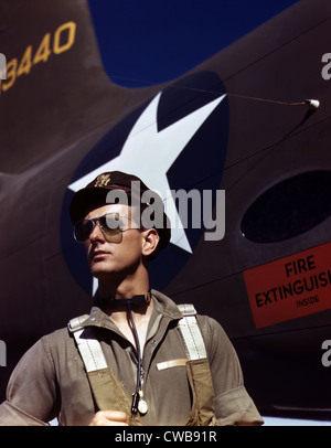
[(331, 308), (331, 243), (244, 271), (256, 328)]

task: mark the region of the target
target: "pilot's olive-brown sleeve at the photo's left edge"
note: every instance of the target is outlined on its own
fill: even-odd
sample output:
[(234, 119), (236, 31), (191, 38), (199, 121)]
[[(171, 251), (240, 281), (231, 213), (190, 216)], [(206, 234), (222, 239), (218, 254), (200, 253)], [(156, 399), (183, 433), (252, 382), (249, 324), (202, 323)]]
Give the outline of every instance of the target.
[(0, 426), (45, 426), (56, 416), (56, 382), (46, 338), (21, 359), (10, 377)]

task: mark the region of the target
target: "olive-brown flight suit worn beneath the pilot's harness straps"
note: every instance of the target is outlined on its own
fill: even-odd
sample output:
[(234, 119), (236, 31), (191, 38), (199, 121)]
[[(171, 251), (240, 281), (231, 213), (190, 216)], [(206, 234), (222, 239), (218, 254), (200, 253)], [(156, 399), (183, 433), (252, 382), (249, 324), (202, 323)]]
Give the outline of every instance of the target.
[[(186, 425), (192, 417), (192, 394), (178, 329), (182, 314), (164, 295), (152, 291), (154, 303), (142, 356), (142, 391), (148, 412), (143, 425)], [(263, 424), (247, 394), (237, 355), (222, 327), (197, 314), (214, 388), (214, 412), (220, 425)], [(125, 391), (136, 387), (137, 352), (98, 303), (86, 326), (93, 327), (108, 366)], [(88, 425), (98, 410), (82, 358), (67, 329), (38, 341), (22, 358), (0, 406), (0, 425)], [(195, 424), (193, 419), (191, 424)]]

